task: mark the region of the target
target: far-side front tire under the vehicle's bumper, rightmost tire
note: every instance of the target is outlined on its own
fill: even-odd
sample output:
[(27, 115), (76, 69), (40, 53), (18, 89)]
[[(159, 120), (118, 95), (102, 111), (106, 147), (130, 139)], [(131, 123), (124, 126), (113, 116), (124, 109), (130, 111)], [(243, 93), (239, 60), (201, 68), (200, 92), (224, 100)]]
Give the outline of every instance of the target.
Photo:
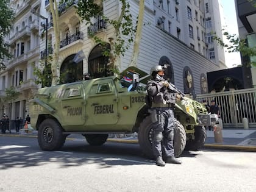
[(194, 126), (194, 140), (188, 140), (185, 150), (198, 151), (204, 146), (207, 134), (204, 126)]

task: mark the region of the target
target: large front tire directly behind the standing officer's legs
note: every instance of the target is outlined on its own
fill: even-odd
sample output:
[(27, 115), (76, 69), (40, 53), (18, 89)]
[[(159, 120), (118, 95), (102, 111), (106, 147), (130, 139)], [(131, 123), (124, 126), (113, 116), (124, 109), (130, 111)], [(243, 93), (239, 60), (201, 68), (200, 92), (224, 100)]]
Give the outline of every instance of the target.
[[(180, 124), (179, 121), (177, 121), (176, 119), (175, 124), (176, 127), (174, 129), (174, 155), (175, 157), (179, 157), (185, 148), (186, 133), (182, 124)], [(139, 127), (138, 143), (140, 144), (140, 148), (143, 151), (144, 155), (149, 158), (154, 158), (152, 151), (153, 130), (151, 127), (151, 116), (147, 116)]]

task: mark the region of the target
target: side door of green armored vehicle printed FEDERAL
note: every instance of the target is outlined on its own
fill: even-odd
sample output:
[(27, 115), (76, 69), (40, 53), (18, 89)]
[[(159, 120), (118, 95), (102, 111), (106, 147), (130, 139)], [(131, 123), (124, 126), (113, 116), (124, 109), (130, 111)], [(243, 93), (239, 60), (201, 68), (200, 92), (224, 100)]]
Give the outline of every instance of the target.
[(87, 125), (118, 122), (117, 93), (113, 79), (96, 80), (88, 91), (85, 112)]

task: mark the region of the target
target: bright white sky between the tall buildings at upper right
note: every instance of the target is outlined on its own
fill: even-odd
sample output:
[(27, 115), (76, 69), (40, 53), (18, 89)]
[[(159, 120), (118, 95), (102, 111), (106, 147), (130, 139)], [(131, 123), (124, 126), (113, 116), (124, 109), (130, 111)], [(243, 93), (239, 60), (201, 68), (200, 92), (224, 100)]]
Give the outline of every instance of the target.
[[(226, 29), (229, 34), (236, 34), (238, 35), (238, 26), (236, 20), (236, 12), (235, 12), (235, 0), (219, 0), (223, 7), (224, 17), (226, 18)], [(241, 64), (240, 53), (228, 53), (225, 52), (225, 60), (226, 65), (229, 68), (232, 68), (234, 64)]]

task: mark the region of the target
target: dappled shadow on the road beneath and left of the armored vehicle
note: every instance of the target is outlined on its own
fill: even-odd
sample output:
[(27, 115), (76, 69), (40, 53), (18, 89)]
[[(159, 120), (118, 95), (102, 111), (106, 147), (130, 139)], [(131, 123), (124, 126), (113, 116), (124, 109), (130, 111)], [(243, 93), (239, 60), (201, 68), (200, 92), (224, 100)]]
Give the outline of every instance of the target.
[(143, 158), (140, 148), (132, 146), (113, 146), (104, 144), (101, 147), (89, 145), (78, 146), (66, 144), (61, 151), (38, 151), (38, 147), (29, 145), (0, 146), (0, 169), (26, 168), (57, 163), (59, 168), (83, 166), (96, 163), (99, 168), (111, 168), (115, 165), (150, 165), (153, 162)]

